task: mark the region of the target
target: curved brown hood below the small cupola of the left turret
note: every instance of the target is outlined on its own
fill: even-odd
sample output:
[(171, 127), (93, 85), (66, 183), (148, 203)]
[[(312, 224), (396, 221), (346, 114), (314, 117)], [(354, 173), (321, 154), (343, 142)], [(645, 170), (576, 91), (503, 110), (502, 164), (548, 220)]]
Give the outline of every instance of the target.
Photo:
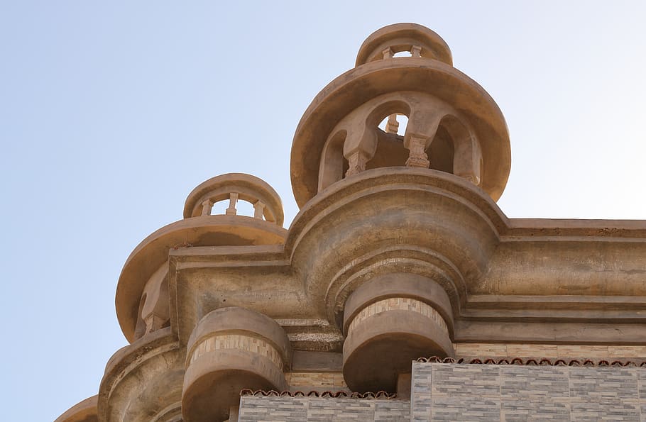
[(274, 223), (245, 216), (200, 216), (170, 223), (144, 239), (130, 254), (116, 286), (116, 316), (133, 342), (139, 300), (152, 274), (173, 248), (221, 245), (280, 245), (287, 231)]

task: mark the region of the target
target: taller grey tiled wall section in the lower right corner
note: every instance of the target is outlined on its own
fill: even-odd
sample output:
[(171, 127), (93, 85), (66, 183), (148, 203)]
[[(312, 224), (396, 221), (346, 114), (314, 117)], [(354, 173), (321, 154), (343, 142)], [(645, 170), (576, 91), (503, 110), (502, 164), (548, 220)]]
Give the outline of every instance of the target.
[(411, 421), (643, 421), (646, 367), (414, 362)]

